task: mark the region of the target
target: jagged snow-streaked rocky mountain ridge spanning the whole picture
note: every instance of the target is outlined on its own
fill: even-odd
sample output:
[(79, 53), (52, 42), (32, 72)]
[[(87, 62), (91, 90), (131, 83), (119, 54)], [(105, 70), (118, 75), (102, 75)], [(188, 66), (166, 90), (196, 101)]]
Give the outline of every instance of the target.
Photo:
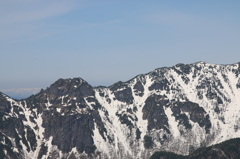
[(155, 69), (109, 87), (59, 79), (24, 100), (0, 93), (0, 157), (197, 156), (198, 148), (240, 137), (239, 97), (240, 63), (205, 62)]

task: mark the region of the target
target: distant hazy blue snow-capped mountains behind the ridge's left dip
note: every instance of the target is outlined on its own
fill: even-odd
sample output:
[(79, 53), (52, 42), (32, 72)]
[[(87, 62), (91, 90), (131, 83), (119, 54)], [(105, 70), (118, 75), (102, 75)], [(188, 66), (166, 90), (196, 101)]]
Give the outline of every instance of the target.
[(11, 98), (24, 99), (33, 94), (37, 94), (40, 90), (41, 88), (19, 88), (19, 89), (5, 89), (0, 91), (10, 96)]

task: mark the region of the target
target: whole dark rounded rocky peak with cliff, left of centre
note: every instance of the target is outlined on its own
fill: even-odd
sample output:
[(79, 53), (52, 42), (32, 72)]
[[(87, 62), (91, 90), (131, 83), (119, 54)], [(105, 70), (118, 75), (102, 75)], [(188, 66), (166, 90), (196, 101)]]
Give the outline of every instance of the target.
[[(79, 78), (59, 79), (50, 88), (32, 97), (33, 101), (37, 98), (39, 103), (36, 104), (41, 106), (39, 113), (42, 112), (45, 138), (52, 136), (52, 144), (57, 145), (63, 153), (70, 152), (74, 147), (79, 153), (94, 153), (96, 149), (92, 138), (94, 125), (104, 130), (96, 111), (101, 106), (94, 97), (93, 88)], [(93, 109), (87, 106), (84, 98), (92, 103)], [(48, 102), (52, 105), (49, 110), (44, 110)], [(34, 102), (28, 101), (28, 103)], [(94, 120), (98, 122), (94, 123)]]

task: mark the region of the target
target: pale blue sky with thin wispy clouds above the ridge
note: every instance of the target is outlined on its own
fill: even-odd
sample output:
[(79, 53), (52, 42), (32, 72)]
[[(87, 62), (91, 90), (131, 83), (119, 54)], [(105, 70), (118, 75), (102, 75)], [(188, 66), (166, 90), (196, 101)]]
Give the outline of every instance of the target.
[(0, 90), (240, 62), (239, 0), (0, 0)]

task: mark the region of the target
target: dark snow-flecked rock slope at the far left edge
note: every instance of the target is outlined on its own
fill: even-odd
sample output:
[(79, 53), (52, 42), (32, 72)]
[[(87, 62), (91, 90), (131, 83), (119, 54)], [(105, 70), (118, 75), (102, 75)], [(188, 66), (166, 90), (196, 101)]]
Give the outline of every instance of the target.
[[(22, 108), (19, 108), (14, 100), (8, 101), (8, 97), (0, 93), (0, 139), (4, 141), (0, 144), (0, 156), (10, 158), (24, 158), (19, 152), (22, 152), (24, 145), (26, 150), (36, 150), (36, 138), (33, 130), (24, 125), (26, 118), (21, 115)], [(13, 114), (11, 116), (10, 114)], [(26, 131), (25, 131), (26, 130)], [(11, 140), (14, 140), (13, 145)], [(22, 143), (22, 144), (21, 144)], [(13, 146), (18, 152), (13, 151)]]

